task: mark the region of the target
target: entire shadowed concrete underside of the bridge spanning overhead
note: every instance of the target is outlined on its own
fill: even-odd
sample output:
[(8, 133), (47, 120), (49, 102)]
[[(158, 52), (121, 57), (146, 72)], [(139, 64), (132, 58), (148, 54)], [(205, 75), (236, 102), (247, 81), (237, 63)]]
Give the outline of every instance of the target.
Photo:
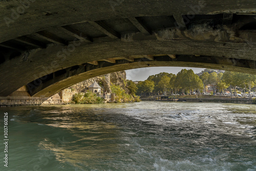
[(160, 66), (256, 74), (256, 2), (1, 1), (0, 96)]

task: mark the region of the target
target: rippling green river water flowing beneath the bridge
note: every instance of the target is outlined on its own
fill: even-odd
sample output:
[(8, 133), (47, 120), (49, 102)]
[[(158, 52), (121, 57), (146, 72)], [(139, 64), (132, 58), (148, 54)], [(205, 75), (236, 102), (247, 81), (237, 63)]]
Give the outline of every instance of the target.
[(256, 105), (153, 102), (1, 108), (0, 170), (256, 170)]

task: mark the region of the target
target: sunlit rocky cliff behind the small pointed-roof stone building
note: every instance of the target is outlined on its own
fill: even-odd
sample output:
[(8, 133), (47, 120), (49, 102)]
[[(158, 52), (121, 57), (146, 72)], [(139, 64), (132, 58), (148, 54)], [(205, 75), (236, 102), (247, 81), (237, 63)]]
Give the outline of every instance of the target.
[(111, 83), (118, 84), (121, 86), (122, 89), (125, 90), (125, 92), (129, 93), (129, 90), (125, 87), (125, 80), (126, 80), (126, 73), (125, 71), (119, 71), (111, 74), (105, 74), (101, 76), (97, 76), (91, 79), (84, 80), (82, 82), (79, 82), (75, 84), (72, 87), (69, 87), (68, 89), (75, 91), (75, 92), (86, 92), (88, 87), (94, 82), (97, 81), (99, 85), (102, 87), (101, 92), (108, 92), (112, 93), (110, 89)]

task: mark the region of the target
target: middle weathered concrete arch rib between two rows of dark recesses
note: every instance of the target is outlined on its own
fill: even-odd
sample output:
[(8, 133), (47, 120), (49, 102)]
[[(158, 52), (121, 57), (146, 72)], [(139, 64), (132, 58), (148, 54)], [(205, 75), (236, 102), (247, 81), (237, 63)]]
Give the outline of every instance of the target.
[[(61, 52), (60, 47), (49, 47), (47, 49), (31, 52), (27, 59), (22, 57), (8, 60), (1, 67), (1, 83), (0, 95), (7, 96), (25, 84), (42, 77), (44, 75), (53, 73), (55, 71), (86, 63), (93, 60), (101, 60), (106, 58), (113, 58), (119, 56), (130, 55), (144, 55), (144, 54), (199, 54), (206, 56), (225, 56), (233, 58), (235, 54), (242, 54), (241, 58), (253, 59), (255, 58), (256, 47), (250, 46), (246, 43), (228, 42), (223, 45), (223, 42), (208, 42), (208, 41), (194, 41), (194, 40), (144, 40), (144, 41), (114, 41), (102, 42), (93, 45), (84, 45), (76, 47), (73, 53), (69, 56), (58, 53)], [(224, 58), (224, 60), (230, 60)], [(255, 69), (255, 60), (250, 61), (252, 69)], [(219, 63), (219, 68), (222, 63)], [(170, 65), (172, 66), (172, 65)], [(187, 67), (196, 67), (189, 65)], [(253, 68), (254, 66), (254, 68)], [(200, 65), (201, 68), (207, 66)], [(212, 66), (209, 66), (212, 68)], [(217, 69), (217, 68), (216, 68)], [(222, 68), (226, 69), (226, 68)], [(124, 70), (124, 68), (122, 69)], [(236, 70), (233, 71), (244, 71)], [(247, 72), (255, 74), (256, 70)], [(105, 74), (105, 73), (102, 73)], [(101, 75), (102, 75), (101, 74)], [(12, 87), (7, 86), (11, 84)]]

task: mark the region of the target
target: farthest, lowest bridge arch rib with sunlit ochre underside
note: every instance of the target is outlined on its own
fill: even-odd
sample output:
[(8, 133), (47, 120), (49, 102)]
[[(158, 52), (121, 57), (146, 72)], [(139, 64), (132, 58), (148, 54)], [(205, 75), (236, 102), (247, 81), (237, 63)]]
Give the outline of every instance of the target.
[[(250, 65), (252, 64), (252, 65)], [(253, 61), (195, 55), (136, 55), (92, 61), (43, 76), (27, 84), (32, 97), (50, 97), (95, 76), (145, 67), (197, 67), (254, 73)]]

